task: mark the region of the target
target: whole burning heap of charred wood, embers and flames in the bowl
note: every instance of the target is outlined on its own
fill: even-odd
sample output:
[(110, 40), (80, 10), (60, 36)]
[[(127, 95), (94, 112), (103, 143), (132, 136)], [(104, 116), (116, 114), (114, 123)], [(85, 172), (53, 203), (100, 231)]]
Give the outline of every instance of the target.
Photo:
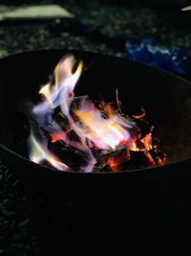
[(152, 138), (153, 127), (139, 116), (128, 116), (117, 104), (94, 103), (88, 96), (74, 96), (83, 71), (73, 55), (56, 65), (53, 79), (32, 108), (30, 159), (62, 171), (119, 172), (162, 165), (165, 154)]

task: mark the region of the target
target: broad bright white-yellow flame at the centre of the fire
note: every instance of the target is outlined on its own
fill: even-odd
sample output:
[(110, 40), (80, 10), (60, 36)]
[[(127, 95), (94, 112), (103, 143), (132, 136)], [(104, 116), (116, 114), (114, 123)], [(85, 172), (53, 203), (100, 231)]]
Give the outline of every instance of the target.
[[(109, 113), (109, 112), (108, 112)], [(97, 148), (102, 150), (115, 150), (122, 141), (128, 141), (130, 133), (126, 128), (131, 126), (125, 123), (119, 116), (110, 114), (110, 118), (104, 118), (101, 111), (86, 102), (75, 114), (86, 127), (86, 138), (91, 140)]]

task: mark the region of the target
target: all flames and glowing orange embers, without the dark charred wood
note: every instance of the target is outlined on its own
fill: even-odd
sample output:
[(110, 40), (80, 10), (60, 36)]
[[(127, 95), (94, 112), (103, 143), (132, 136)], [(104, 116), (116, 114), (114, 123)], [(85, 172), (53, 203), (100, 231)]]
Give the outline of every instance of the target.
[[(39, 126), (49, 132), (52, 143), (62, 140), (68, 147), (84, 152), (87, 164), (80, 167), (83, 172), (92, 172), (97, 163), (93, 150), (116, 151), (120, 146), (125, 147), (126, 154), (110, 155), (107, 159), (107, 164), (113, 172), (118, 172), (122, 163), (130, 159), (130, 151), (143, 151), (149, 164), (154, 166), (156, 162), (149, 152), (153, 149), (152, 134), (149, 133), (140, 138), (140, 133), (135, 131), (132, 133), (131, 130), (136, 128), (136, 123), (122, 115), (118, 91), (116, 91), (118, 109), (104, 102), (96, 106), (87, 96), (74, 97), (74, 88), (82, 70), (83, 62), (80, 60), (76, 65), (72, 55), (67, 55), (58, 62), (53, 71), (53, 80), (39, 90), (44, 100), (32, 108)], [(72, 109), (72, 103), (76, 99), (80, 105), (74, 105)], [(56, 118), (53, 118), (54, 109), (57, 107), (60, 109), (63, 120), (67, 119), (67, 128), (62, 128)], [(141, 108), (141, 114), (133, 117), (141, 119), (144, 115), (145, 110)], [(69, 136), (72, 131), (77, 140)], [(45, 138), (41, 140), (34, 136), (33, 131), (31, 132), (30, 159), (35, 163), (46, 160), (54, 168), (70, 170), (48, 150), (47, 140)], [(157, 164), (160, 164), (160, 161), (161, 159), (158, 159)]]

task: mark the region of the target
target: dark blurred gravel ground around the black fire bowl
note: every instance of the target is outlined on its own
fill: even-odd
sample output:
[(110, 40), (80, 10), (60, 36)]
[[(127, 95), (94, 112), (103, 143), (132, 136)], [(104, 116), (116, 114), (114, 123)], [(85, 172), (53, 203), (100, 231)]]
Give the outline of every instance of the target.
[[(20, 5), (56, 3), (75, 20), (0, 21), (0, 58), (39, 49), (74, 49), (126, 57), (125, 38), (152, 37), (191, 53), (190, 1), (1, 1), (0, 13)], [(37, 60), (36, 60), (37, 61)], [(0, 255), (38, 255), (29, 217), (30, 195), (0, 161)], [(131, 254), (132, 255), (132, 254)]]

